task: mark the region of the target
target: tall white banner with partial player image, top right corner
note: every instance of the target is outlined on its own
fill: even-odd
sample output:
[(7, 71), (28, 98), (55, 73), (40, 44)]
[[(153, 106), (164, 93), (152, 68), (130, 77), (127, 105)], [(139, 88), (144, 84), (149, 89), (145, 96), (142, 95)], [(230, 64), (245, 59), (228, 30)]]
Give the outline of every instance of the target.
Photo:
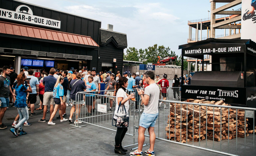
[(241, 39), (251, 39), (256, 42), (256, 1), (242, 0)]

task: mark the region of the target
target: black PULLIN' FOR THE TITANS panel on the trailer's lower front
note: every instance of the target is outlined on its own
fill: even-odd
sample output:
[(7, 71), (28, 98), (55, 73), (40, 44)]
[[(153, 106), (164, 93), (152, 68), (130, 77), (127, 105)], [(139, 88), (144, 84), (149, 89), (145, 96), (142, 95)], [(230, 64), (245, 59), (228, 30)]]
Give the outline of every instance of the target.
[[(228, 104), (246, 105), (246, 89), (231, 87), (209, 87), (181, 85), (182, 100), (206, 99), (208, 101), (223, 100)], [(256, 99), (255, 99), (256, 100)]]

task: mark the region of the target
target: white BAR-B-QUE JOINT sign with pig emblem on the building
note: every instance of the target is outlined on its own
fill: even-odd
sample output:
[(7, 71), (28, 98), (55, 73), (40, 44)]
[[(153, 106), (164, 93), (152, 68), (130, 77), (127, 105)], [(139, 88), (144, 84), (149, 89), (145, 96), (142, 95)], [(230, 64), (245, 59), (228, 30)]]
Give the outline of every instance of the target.
[(32, 9), (26, 5), (19, 5), (15, 11), (0, 8), (0, 18), (61, 29), (60, 20), (35, 16)]

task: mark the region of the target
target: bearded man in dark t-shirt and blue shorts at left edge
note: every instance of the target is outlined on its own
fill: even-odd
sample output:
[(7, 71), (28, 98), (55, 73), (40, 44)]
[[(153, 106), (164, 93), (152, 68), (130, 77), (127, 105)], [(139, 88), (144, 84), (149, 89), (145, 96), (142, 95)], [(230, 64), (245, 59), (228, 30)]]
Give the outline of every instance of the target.
[(3, 66), (2, 76), (0, 76), (0, 129), (6, 129), (7, 126), (2, 123), (3, 116), (5, 115), (7, 107), (9, 107), (9, 94), (15, 99), (13, 91), (10, 86), (10, 67)]

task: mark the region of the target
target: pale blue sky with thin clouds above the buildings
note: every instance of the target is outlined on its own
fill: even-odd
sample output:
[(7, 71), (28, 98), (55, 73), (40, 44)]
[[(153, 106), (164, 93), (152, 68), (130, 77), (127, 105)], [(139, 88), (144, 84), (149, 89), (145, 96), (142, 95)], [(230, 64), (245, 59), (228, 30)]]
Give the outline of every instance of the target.
[[(112, 24), (113, 31), (127, 34), (128, 47), (145, 49), (158, 44), (169, 47), (178, 55), (181, 55), (178, 46), (187, 43), (188, 20), (208, 18), (208, 10), (210, 10), (209, 0), (23, 1), (100, 20), (104, 29), (107, 29), (107, 24)], [(219, 33), (224, 34), (224, 31)], [(195, 29), (192, 38), (195, 38), (194, 36)], [(202, 33), (202, 36), (207, 36), (207, 32)]]

